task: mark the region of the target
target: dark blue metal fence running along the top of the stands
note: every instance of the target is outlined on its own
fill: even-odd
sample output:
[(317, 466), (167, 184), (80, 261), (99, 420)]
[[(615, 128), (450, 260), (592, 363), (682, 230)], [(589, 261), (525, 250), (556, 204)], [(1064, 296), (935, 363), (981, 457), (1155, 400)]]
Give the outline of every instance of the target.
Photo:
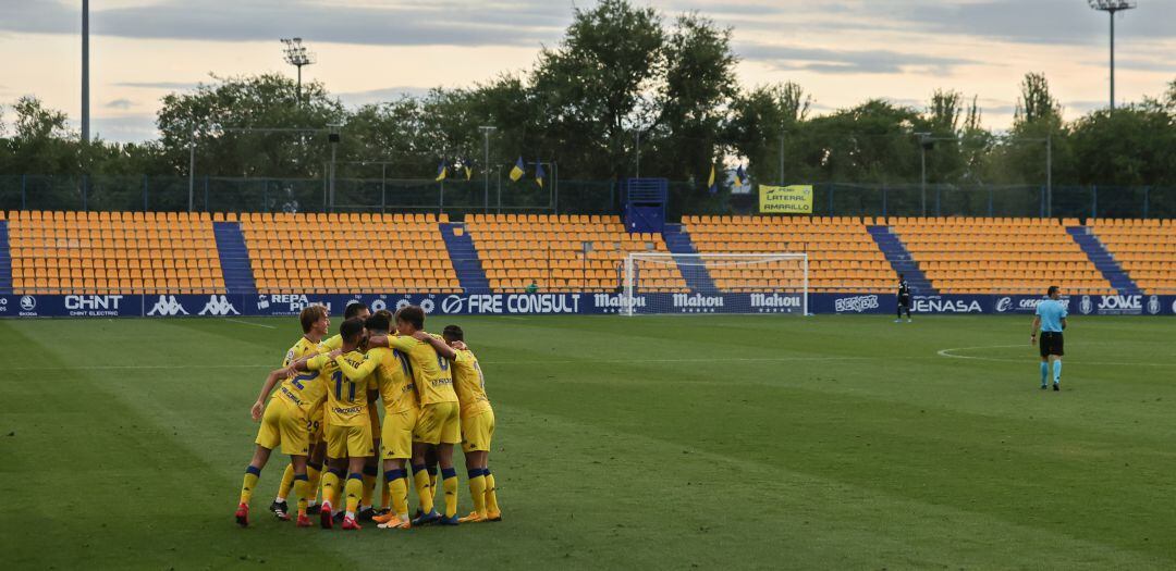
[[(0, 176), (4, 210), (188, 210), (185, 176)], [(330, 211), (325, 179), (241, 179), (198, 176), (192, 207), (198, 211)], [(755, 190), (753, 188), (753, 190)], [(338, 179), (334, 211), (436, 211), (528, 214), (615, 214), (623, 206), (620, 181), (476, 177)], [(755, 214), (759, 194), (710, 195), (703, 182), (670, 182), (667, 216)], [(1013, 217), (1176, 217), (1174, 187), (957, 186), (918, 183), (814, 186), (818, 216), (1013, 216)]]

